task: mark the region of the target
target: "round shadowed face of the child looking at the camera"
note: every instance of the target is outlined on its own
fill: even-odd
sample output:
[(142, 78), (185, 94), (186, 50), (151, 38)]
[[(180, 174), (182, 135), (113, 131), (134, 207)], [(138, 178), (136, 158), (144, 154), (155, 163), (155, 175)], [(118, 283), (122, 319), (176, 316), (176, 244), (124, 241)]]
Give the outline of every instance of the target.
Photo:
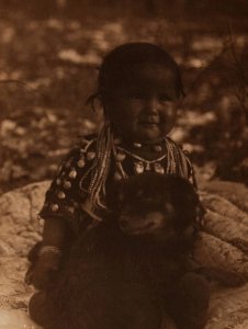
[(128, 86), (119, 88), (108, 103), (110, 121), (124, 139), (153, 141), (166, 136), (177, 117), (174, 75), (161, 65), (143, 65)]

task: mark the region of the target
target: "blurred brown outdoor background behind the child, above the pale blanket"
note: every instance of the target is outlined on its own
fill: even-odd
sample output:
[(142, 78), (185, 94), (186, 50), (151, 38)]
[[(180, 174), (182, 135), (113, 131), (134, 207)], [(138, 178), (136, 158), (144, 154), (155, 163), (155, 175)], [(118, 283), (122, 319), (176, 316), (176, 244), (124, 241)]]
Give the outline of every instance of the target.
[(203, 179), (248, 184), (247, 0), (0, 1), (0, 192), (50, 179), (101, 109), (98, 66), (134, 41), (164, 46), (187, 98), (172, 137)]

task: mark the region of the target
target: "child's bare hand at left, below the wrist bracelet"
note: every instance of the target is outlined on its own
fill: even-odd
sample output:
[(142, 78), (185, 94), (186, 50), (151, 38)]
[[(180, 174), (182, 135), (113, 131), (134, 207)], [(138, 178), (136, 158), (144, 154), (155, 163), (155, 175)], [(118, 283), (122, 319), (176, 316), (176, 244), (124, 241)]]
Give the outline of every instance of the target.
[(26, 273), (25, 282), (37, 290), (44, 290), (52, 284), (58, 270), (59, 258), (53, 253), (41, 254), (34, 266)]

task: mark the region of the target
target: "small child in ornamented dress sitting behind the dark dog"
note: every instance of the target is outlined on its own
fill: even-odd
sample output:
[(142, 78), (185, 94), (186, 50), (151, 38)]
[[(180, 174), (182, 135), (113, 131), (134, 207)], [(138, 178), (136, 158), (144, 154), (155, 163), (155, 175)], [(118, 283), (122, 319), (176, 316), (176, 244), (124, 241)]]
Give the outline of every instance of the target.
[(45, 288), (80, 231), (111, 211), (105, 195), (114, 181), (155, 171), (195, 184), (190, 160), (167, 136), (183, 95), (179, 68), (162, 48), (132, 43), (106, 55), (89, 99), (92, 106), (100, 100), (104, 124), (69, 152), (46, 193), (43, 240), (30, 273), (34, 286)]

